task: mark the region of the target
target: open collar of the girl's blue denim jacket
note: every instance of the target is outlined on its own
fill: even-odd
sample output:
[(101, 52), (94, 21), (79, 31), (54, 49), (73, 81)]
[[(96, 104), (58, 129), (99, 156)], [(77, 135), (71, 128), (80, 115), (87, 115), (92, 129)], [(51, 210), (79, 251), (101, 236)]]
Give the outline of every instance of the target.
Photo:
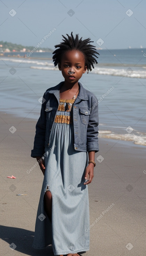
[[(64, 83), (64, 81), (59, 83), (59, 84), (57, 84), (56, 86), (54, 86), (53, 90), (50, 90), (50, 91), (48, 90), (48, 93), (54, 93), (55, 96), (59, 96), (59, 90), (60, 90), (60, 88), (61, 88), (63, 83)], [(80, 82), (78, 82), (78, 84), (79, 84), (79, 93), (78, 93), (77, 98), (79, 98), (79, 101), (81, 99), (88, 100), (86, 89), (83, 87), (83, 85)], [(77, 103), (77, 101), (78, 100), (76, 100), (76, 103)]]

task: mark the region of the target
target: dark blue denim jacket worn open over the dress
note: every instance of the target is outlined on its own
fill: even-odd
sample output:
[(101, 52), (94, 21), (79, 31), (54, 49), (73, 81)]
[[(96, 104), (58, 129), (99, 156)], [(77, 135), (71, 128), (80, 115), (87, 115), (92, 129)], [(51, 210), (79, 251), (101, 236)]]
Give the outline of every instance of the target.
[[(60, 88), (64, 82), (49, 88), (43, 96), (45, 101), (36, 125), (36, 135), (31, 157), (43, 156), (49, 148), (50, 134), (59, 106)], [(74, 149), (77, 151), (99, 151), (98, 145), (98, 99), (79, 83), (79, 93), (72, 106), (74, 125)], [(65, 138), (64, 138), (65, 140)]]

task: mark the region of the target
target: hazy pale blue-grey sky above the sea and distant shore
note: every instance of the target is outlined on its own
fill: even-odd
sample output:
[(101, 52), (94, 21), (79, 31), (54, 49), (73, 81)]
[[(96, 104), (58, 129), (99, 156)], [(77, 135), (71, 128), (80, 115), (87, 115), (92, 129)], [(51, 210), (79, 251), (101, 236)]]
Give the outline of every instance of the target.
[(0, 0), (0, 41), (54, 49), (73, 32), (103, 49), (146, 48), (145, 15), (145, 0)]

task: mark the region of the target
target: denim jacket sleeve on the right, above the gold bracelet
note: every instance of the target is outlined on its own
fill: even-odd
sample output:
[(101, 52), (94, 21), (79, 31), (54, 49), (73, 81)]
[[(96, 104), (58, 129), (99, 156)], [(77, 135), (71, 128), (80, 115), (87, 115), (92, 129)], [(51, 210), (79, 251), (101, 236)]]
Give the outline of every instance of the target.
[(87, 127), (87, 151), (99, 151), (98, 144), (98, 99), (96, 99), (91, 107), (91, 114), (89, 118), (89, 124)]

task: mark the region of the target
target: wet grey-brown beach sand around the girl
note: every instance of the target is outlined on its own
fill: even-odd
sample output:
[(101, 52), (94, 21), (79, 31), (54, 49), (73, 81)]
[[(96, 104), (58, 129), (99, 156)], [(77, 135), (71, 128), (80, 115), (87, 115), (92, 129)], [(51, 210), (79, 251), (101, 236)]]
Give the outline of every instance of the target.
[[(3, 112), (0, 117), (0, 255), (53, 256), (51, 246), (32, 248), (43, 182), (39, 166), (27, 173), (37, 162), (30, 157), (36, 121)], [(146, 147), (99, 137), (99, 148), (88, 186), (90, 251), (83, 255), (145, 256)], [(16, 179), (7, 178), (11, 175)]]

